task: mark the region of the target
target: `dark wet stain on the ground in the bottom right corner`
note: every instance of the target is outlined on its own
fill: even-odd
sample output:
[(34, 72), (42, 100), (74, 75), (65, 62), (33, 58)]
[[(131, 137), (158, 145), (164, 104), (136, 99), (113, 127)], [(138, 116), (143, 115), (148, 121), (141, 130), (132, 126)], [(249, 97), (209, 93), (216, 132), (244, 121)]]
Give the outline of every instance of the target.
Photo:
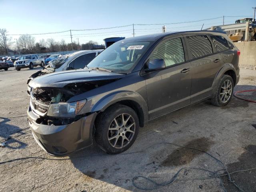
[[(256, 167), (256, 145), (248, 145), (245, 152), (240, 155), (238, 162), (227, 165), (229, 172), (246, 170)], [(256, 170), (241, 172), (231, 175), (232, 180), (244, 191), (256, 192)], [(223, 179), (224, 186), (228, 192), (239, 191), (236, 186)]]

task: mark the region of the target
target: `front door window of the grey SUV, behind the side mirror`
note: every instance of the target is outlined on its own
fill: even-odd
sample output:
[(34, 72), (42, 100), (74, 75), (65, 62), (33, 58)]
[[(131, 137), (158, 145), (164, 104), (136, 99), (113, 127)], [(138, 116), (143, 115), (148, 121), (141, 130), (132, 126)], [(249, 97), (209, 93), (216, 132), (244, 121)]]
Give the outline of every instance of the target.
[(166, 66), (184, 62), (185, 56), (181, 38), (163, 42), (154, 50), (149, 59), (163, 59)]

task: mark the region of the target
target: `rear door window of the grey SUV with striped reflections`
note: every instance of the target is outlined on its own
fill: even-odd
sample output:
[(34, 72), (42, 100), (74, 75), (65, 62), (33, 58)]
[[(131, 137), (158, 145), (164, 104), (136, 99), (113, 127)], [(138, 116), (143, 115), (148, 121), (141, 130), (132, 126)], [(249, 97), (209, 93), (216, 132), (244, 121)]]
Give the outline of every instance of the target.
[(207, 36), (186, 37), (193, 59), (212, 54), (212, 45)]

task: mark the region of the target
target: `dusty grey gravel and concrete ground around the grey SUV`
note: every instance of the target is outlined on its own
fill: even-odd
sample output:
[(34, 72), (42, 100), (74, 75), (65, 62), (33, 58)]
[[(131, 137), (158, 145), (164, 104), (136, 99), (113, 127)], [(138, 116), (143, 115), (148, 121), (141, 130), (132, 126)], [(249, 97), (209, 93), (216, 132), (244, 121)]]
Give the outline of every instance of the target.
[[(28, 128), (26, 80), (38, 69), (0, 71), (0, 142), (9, 138), (7, 146), (0, 148), (0, 162), (29, 156), (64, 159), (46, 154)], [(241, 69), (240, 75), (235, 90), (256, 89), (255, 70)], [(207, 154), (164, 142), (206, 150), (222, 160), (230, 172), (253, 168), (256, 167), (255, 124), (255, 103), (233, 97), (227, 106), (219, 108), (205, 101), (150, 121), (123, 154), (104, 154), (93, 145), (66, 157), (68, 160), (25, 159), (0, 164), (0, 191), (144, 191), (133, 185), (133, 178), (145, 176), (164, 183), (181, 168), (185, 169), (179, 179), (212, 175), (189, 167), (213, 172), (223, 169)], [(244, 191), (256, 191), (256, 170), (232, 174), (232, 179)], [(228, 191), (238, 191), (226, 178), (222, 182)], [(224, 191), (219, 178), (176, 181), (158, 188), (143, 178), (135, 179), (134, 183), (140, 188), (155, 188), (154, 192)]]

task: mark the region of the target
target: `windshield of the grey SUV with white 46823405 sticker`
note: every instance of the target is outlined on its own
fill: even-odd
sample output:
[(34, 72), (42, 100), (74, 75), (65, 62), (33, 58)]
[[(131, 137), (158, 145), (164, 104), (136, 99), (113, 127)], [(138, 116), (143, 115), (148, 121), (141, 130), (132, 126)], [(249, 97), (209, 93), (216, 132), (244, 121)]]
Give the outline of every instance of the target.
[(92, 60), (88, 68), (103, 68), (117, 73), (128, 73), (138, 63), (152, 42), (116, 42)]

